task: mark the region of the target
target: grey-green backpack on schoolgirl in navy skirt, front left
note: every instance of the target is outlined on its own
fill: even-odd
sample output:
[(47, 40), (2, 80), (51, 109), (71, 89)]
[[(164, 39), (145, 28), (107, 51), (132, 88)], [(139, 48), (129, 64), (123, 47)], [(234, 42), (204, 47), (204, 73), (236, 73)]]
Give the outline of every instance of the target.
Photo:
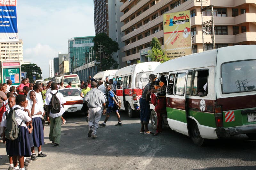
[(20, 128), (18, 128), (17, 122), (15, 120), (16, 118), (15, 110), (18, 110), (18, 109), (20, 108), (16, 107), (14, 109), (11, 109), (8, 115), (7, 115), (7, 111), (5, 112), (6, 128), (4, 130), (4, 133), (5, 133), (5, 137), (9, 140), (17, 139), (20, 133)]

